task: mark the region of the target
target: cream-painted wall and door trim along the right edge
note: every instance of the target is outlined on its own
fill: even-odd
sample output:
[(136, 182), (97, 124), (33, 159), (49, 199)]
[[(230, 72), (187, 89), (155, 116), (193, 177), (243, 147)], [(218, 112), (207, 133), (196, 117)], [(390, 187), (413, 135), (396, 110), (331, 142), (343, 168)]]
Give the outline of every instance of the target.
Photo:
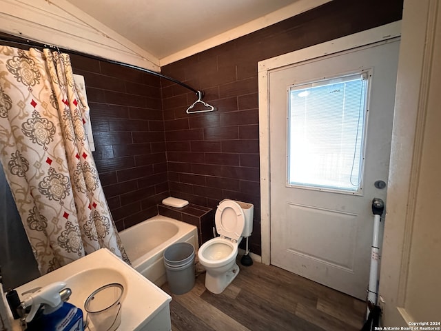
[(441, 5), (404, 0), (380, 274), (386, 326), (441, 321), (440, 90)]

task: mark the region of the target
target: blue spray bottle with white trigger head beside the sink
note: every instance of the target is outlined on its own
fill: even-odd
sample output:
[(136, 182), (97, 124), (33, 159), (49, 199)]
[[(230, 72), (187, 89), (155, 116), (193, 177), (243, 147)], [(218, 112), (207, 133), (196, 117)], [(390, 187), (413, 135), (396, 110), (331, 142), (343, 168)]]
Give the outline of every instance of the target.
[[(30, 307), (25, 321), (28, 331), (83, 331), (83, 311), (71, 303), (61, 300), (60, 291), (66, 283), (58, 281), (30, 294), (22, 308)], [(43, 305), (40, 313), (39, 309)], [(39, 314), (37, 314), (39, 312)]]

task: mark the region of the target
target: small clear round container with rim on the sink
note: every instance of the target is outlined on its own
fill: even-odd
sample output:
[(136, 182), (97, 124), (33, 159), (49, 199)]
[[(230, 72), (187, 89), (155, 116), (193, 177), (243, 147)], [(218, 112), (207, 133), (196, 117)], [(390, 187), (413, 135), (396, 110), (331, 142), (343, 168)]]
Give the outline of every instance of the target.
[(86, 324), (89, 326), (89, 323), (92, 323), (96, 331), (116, 330), (121, 324), (123, 292), (123, 285), (111, 283), (101, 286), (90, 294), (84, 305), (88, 313)]

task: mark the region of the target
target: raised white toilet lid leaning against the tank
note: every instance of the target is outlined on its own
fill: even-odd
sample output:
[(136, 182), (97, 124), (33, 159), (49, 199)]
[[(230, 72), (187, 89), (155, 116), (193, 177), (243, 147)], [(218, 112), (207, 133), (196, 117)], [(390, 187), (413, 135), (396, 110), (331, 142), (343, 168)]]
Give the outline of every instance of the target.
[(245, 227), (243, 210), (236, 201), (223, 200), (216, 210), (216, 230), (221, 236), (238, 240)]

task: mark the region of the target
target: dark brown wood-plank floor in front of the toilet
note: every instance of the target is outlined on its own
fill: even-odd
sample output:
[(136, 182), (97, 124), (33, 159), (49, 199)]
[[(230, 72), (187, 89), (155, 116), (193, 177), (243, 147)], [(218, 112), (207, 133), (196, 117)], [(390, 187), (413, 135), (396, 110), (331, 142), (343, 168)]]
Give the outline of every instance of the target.
[(360, 330), (365, 303), (274, 265), (244, 267), (221, 294), (205, 289), (205, 274), (194, 288), (172, 294), (172, 331), (342, 331)]

